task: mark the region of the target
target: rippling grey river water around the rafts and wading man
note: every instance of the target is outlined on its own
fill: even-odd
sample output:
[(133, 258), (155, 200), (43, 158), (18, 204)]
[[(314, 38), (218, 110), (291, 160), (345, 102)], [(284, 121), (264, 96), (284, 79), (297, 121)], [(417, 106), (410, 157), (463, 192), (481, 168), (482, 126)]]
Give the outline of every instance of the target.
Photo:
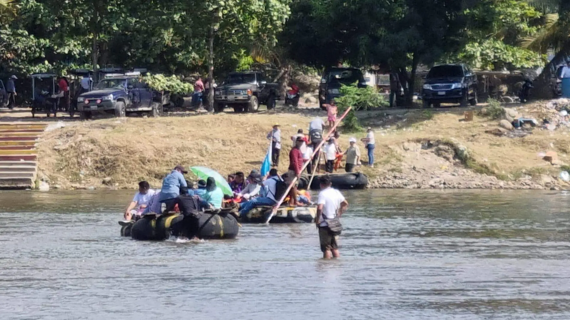
[(121, 238), (133, 192), (0, 191), (1, 319), (570, 319), (570, 194), (345, 192), (312, 224)]

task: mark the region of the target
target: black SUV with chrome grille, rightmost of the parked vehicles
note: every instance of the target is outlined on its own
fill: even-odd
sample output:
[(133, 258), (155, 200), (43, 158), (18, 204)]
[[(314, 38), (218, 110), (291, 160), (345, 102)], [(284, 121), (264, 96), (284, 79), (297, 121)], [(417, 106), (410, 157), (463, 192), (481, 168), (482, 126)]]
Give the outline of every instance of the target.
[(431, 68), (422, 88), (424, 108), (442, 103), (477, 105), (477, 76), (466, 64), (441, 64)]

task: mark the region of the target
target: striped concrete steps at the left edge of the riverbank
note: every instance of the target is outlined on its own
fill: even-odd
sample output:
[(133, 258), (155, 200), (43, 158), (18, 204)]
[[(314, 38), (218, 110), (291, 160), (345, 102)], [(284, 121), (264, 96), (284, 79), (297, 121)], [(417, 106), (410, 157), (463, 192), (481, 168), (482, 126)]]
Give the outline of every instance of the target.
[(36, 140), (44, 124), (0, 124), (0, 189), (34, 188), (38, 175)]

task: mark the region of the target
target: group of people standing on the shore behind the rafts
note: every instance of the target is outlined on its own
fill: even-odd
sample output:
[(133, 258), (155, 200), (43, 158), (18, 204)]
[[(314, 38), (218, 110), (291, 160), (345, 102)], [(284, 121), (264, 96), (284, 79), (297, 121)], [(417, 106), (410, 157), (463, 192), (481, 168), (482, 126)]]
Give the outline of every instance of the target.
[[(329, 120), (330, 119), (331, 118), (329, 118)], [(334, 121), (336, 121), (336, 114), (334, 119), (332, 126), (335, 123)], [(329, 121), (328, 128), (330, 129), (332, 126), (331, 121)], [(323, 141), (323, 129), (325, 128), (327, 128), (325, 122), (317, 117), (309, 123), (308, 136), (304, 134), (303, 129), (299, 129), (297, 134), (291, 137), (293, 144), (290, 151), (290, 162), (294, 162), (300, 157), (302, 165), (307, 163), (307, 174), (312, 174), (313, 170), (317, 170), (317, 162), (320, 162), (320, 158), (322, 157), (324, 158), (325, 171), (327, 173), (333, 173), (340, 166), (342, 158), (346, 157), (345, 171), (347, 173), (353, 172), (356, 166), (361, 165), (360, 148), (357, 145), (355, 137), (349, 138), (349, 146), (343, 151), (339, 145), (339, 131), (335, 130), (333, 135), (328, 138), (328, 141), (324, 143), (322, 149), (319, 149), (319, 152), (313, 155), (314, 150), (319, 148), (320, 143)], [(279, 157), (282, 149), (281, 130), (278, 123), (275, 123), (272, 130), (267, 133), (267, 139), (272, 141), (272, 166), (277, 167), (279, 166)], [(368, 165), (374, 167), (374, 148), (376, 141), (374, 140), (372, 128), (367, 128), (367, 136), (360, 141), (364, 143), (365, 148), (368, 150)], [(300, 143), (298, 147), (299, 151), (294, 151), (297, 143)], [(291, 152), (293, 154), (291, 154)]]

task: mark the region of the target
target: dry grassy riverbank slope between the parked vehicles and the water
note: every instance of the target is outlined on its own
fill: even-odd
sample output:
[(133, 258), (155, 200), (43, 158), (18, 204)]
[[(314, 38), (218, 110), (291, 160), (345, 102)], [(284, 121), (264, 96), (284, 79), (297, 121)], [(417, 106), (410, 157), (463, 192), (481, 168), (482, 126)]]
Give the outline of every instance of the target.
[[(525, 116), (543, 116), (539, 114), (541, 104), (518, 111)], [(499, 137), (489, 133), (496, 131), (498, 120), (475, 116), (474, 121), (460, 121), (462, 112), (447, 108), (359, 113), (363, 125), (376, 129), (377, 143), (377, 165), (359, 170), (371, 178), (371, 187), (565, 186), (556, 177), (570, 153), (567, 127), (554, 131), (535, 128), (526, 137)], [(246, 172), (259, 168), (267, 149), (266, 133), (275, 122), (282, 125), (279, 170), (283, 172), (291, 146), (287, 138), (299, 128), (307, 129), (316, 115), (325, 113), (279, 109), (256, 114), (67, 122), (64, 128), (45, 133), (39, 143), (39, 177), (60, 188), (135, 188), (142, 179), (160, 186), (164, 174), (178, 163), (208, 166), (222, 174)], [(364, 132), (342, 134), (341, 146), (345, 148), (351, 136), (360, 138)], [(360, 149), (366, 159), (366, 150), (362, 145)], [(557, 153), (555, 165), (538, 156), (546, 151)]]

